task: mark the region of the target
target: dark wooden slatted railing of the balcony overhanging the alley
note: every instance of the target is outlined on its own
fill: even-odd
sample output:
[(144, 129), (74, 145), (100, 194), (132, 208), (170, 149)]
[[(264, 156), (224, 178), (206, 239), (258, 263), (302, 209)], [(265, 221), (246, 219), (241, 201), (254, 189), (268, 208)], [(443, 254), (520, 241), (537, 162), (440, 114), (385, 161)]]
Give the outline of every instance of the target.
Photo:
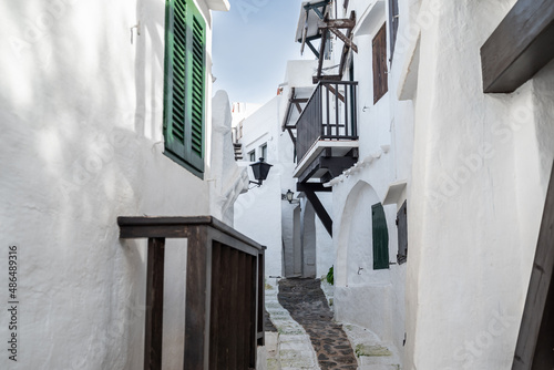
[(357, 140), (355, 81), (320, 81), (296, 123), (298, 162), (319, 140)]

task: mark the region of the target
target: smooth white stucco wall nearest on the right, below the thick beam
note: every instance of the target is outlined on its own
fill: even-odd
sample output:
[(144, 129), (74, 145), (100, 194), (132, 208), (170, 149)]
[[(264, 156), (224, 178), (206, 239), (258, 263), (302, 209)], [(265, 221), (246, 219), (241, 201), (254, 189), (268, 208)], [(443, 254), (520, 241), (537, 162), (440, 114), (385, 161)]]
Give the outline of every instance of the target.
[(422, 28), (408, 368), (512, 367), (553, 158), (554, 78), (551, 64), (513, 94), (483, 94), (479, 50), (513, 3), (440, 2)]

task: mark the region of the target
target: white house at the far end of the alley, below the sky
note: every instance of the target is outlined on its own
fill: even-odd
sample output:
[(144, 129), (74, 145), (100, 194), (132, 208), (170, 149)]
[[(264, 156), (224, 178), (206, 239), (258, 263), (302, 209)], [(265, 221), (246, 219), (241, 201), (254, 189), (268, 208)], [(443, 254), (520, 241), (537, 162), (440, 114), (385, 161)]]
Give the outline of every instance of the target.
[[(266, 277), (319, 277), (332, 265), (329, 235), (311, 204), (297, 197), (294, 144), (281, 130), (287, 115), (299, 114), (288, 104), (291, 91), (307, 97), (314, 90), (316, 65), (315, 61), (289, 61), (279, 94), (237, 124), (244, 157), (239, 165), (249, 166), (260, 157), (273, 165), (267, 181), (259, 187), (252, 185), (235, 207), (237, 230), (267, 246)], [(290, 203), (285, 199), (288, 191), (295, 193)], [(330, 197), (324, 201), (330, 204)]]

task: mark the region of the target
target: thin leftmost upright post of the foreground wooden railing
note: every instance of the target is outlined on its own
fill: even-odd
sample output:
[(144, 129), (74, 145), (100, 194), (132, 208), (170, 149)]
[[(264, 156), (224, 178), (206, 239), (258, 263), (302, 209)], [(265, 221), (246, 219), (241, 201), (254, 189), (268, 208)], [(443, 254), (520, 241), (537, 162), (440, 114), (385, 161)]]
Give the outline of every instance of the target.
[(144, 369), (162, 369), (165, 238), (148, 238)]

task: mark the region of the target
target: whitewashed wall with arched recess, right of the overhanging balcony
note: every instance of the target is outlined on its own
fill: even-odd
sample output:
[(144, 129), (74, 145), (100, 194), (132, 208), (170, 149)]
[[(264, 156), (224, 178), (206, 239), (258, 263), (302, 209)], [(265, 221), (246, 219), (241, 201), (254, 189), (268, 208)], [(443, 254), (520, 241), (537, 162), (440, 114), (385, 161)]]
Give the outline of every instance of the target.
[[(331, 182), (336, 249), (334, 304), (338, 320), (368, 328), (402, 356), (407, 265), (393, 264), (390, 269), (373, 270), (372, 256), (371, 206), (384, 201), (390, 184), (409, 181), (413, 137), (412, 104), (398, 101), (396, 84), (389, 82), (388, 93), (373, 104), (372, 40), (386, 20), (389, 34), (386, 3), (351, 1), (347, 11), (347, 16), (351, 10), (357, 14), (353, 41), (358, 53), (352, 53), (352, 59), (353, 76), (358, 81), (360, 138), (358, 166)], [(394, 63), (400, 66), (404, 58), (397, 51)], [(389, 66), (389, 81), (394, 79), (394, 73), (399, 74), (394, 65)], [(399, 203), (398, 206), (401, 199)], [(397, 206), (384, 206), (384, 213), (389, 260), (396, 263)]]

